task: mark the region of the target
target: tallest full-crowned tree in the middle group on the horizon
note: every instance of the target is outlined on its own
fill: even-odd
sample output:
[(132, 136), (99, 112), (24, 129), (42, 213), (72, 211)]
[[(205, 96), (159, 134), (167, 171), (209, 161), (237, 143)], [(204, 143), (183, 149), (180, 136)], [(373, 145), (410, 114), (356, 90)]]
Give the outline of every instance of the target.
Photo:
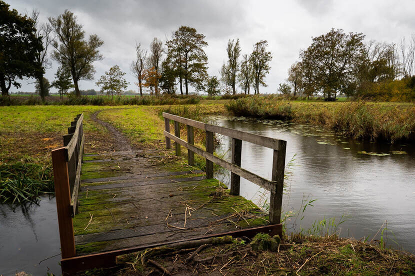
[(203, 81), (207, 77), (207, 55), (203, 47), (207, 46), (205, 36), (195, 28), (180, 26), (166, 42), (167, 56), (173, 61), (174, 71), (179, 78), (180, 92), (188, 94), (188, 85), (203, 90)]

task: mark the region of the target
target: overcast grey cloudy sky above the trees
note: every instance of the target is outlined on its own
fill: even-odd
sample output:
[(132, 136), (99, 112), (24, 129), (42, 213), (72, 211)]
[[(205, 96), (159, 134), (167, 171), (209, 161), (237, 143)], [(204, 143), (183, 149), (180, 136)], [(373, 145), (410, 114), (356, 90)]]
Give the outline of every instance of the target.
[[(40, 11), (40, 21), (71, 10), (86, 34), (97, 34), (103, 41), (103, 59), (95, 61), (95, 80), (81, 81), (80, 89), (99, 88), (95, 81), (114, 64), (126, 72), (127, 89), (136, 90), (129, 64), (134, 59), (135, 42), (148, 47), (153, 37), (170, 38), (180, 25), (196, 28), (206, 36), (209, 75), (218, 75), (225, 61), (228, 39), (239, 38), (242, 53), (250, 53), (258, 40), (268, 41), (272, 53), (268, 87), (273, 93), (287, 77), (288, 67), (297, 60), (300, 49), (311, 37), (330, 28), (362, 32), (366, 40), (398, 43), (415, 32), (413, 0), (6, 0), (20, 13)], [(57, 64), (47, 70), (52, 81)], [(32, 80), (22, 80), (21, 91), (33, 91)], [(11, 88), (16, 91), (16, 88)], [(52, 90), (53, 91), (53, 90)]]

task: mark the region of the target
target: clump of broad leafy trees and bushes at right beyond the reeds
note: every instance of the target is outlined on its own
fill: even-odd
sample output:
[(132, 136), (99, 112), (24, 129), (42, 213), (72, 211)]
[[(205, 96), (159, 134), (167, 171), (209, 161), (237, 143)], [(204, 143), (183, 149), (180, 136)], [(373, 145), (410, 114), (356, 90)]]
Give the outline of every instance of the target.
[(411, 100), (415, 98), (415, 34), (399, 45), (370, 40), (363, 33), (332, 28), (312, 37), (299, 60), (288, 69), (282, 94), (334, 98), (338, 93), (354, 97)]

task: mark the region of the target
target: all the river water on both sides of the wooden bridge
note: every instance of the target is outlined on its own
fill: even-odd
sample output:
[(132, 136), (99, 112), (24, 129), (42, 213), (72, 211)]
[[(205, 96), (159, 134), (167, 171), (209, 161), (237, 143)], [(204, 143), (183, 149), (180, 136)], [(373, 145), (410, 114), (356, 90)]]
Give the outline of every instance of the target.
[[(383, 225), (387, 227), (383, 231), (387, 246), (415, 252), (415, 146), (361, 142), (319, 126), (279, 120), (223, 116), (212, 120), (218, 125), (287, 141), (286, 162), (295, 156), (283, 196), (283, 211), (297, 214), (287, 218), (288, 231), (306, 230), (314, 221), (335, 217), (336, 224), (344, 220), (336, 229), (340, 236), (371, 240)], [(221, 144), (216, 152), (230, 160), (231, 140), (219, 138)], [(271, 149), (242, 142), (243, 168), (269, 179), (271, 157)], [(229, 177), (219, 171), (216, 178), (227, 182)], [(264, 191), (243, 178), (240, 193), (263, 204)], [(299, 211), (313, 199), (313, 206)], [(385, 221), (387, 224), (383, 224)], [(379, 239), (380, 234), (374, 239)], [(0, 204), (0, 275), (23, 270), (33, 275), (59, 275), (59, 260), (53, 197), (43, 196), (39, 205), (14, 209)]]

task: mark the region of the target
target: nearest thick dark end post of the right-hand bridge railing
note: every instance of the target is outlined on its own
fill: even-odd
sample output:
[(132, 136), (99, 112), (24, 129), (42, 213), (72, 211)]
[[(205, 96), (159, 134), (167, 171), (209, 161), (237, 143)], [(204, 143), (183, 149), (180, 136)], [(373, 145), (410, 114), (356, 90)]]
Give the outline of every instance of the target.
[(282, 191), (284, 188), (284, 166), (285, 166), (286, 141), (279, 140), (279, 150), (273, 152), (272, 176), (275, 181), (275, 190), (271, 191), (269, 200), (269, 223), (278, 224), (281, 222)]

